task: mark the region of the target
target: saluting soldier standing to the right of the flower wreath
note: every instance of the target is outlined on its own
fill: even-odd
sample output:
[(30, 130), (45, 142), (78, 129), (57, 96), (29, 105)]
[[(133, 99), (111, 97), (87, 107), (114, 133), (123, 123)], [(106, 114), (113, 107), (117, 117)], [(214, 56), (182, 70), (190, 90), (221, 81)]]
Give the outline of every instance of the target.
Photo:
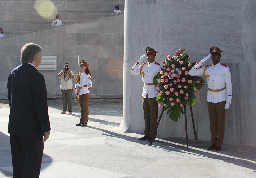
[[(224, 139), (225, 109), (228, 109), (232, 99), (231, 74), (226, 64), (220, 63), (220, 48), (213, 46), (210, 53), (200, 62), (196, 63), (188, 72), (189, 75), (204, 75), (208, 84), (207, 106), (210, 119), (212, 144), (208, 150), (219, 151)], [(212, 57), (212, 65), (199, 68), (205, 61)]]

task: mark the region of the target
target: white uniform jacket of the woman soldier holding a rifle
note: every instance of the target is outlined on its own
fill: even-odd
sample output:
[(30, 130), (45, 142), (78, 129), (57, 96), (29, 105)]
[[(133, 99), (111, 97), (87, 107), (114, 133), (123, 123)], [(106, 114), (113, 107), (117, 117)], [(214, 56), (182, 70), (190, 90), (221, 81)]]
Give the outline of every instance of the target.
[(90, 93), (90, 90), (88, 88), (92, 87), (91, 75), (88, 73), (82, 72), (80, 74), (80, 83), (77, 83), (76, 87), (80, 87), (79, 95)]

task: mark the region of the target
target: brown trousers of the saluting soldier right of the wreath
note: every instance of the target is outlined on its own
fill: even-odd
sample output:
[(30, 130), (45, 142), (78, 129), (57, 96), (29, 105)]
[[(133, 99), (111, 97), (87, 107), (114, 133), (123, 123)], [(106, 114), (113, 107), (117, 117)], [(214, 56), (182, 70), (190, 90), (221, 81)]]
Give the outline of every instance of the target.
[(207, 102), (210, 118), (211, 142), (216, 146), (222, 146), (225, 130), (225, 104), (226, 101), (211, 103)]

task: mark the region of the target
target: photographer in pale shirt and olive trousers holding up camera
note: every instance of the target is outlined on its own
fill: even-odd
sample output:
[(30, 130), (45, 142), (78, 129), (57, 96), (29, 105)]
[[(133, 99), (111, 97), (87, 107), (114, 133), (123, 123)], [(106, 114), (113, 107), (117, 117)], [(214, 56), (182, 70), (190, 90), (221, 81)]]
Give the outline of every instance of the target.
[(62, 106), (63, 110), (61, 114), (65, 114), (67, 110), (67, 100), (68, 100), (68, 114), (72, 114), (72, 93), (73, 93), (73, 83), (71, 79), (74, 78), (74, 74), (69, 70), (68, 63), (64, 66), (63, 70), (58, 74), (61, 78), (60, 89), (62, 96)]

